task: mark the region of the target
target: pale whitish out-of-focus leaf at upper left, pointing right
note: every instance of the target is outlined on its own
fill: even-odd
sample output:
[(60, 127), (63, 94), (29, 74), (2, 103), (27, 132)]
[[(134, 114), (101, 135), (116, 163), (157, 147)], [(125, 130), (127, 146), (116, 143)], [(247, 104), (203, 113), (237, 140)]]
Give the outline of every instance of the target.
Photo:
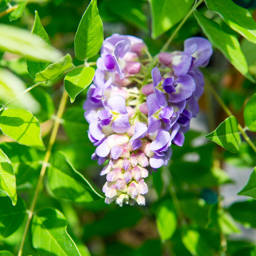
[(62, 53), (45, 44), (41, 37), (29, 31), (10, 25), (0, 24), (0, 51), (26, 56), (27, 59), (56, 61)]

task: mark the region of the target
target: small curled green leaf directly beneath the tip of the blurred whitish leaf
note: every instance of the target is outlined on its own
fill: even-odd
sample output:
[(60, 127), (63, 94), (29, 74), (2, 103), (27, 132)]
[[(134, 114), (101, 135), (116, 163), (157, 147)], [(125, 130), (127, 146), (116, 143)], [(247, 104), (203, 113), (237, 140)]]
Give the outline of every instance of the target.
[(61, 57), (56, 62), (50, 64), (46, 69), (36, 74), (37, 82), (44, 82), (59, 78), (68, 68), (75, 67), (69, 53)]

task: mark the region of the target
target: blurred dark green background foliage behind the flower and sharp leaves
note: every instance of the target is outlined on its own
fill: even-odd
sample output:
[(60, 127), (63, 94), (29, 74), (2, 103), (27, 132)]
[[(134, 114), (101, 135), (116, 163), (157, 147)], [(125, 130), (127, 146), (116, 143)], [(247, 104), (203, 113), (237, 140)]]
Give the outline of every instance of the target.
[[(256, 17), (256, 1), (234, 2), (249, 8)], [(11, 1), (11, 4), (16, 2)], [(37, 10), (52, 45), (70, 53), (74, 64), (79, 65), (82, 61), (75, 57), (74, 37), (88, 4), (89, 1), (84, 0), (31, 0), (19, 19), (10, 22), (8, 15), (5, 15), (0, 22), (31, 30)], [(98, 0), (97, 4), (103, 21), (104, 38), (112, 33), (140, 37), (152, 55), (159, 52), (177, 27), (175, 25), (153, 40), (150, 8), (146, 0)], [(0, 12), (7, 8), (6, 1), (1, 1)], [(198, 10), (219, 22), (224, 31), (238, 35), (217, 14), (207, 11), (204, 4)], [(191, 36), (204, 36), (193, 15), (178, 32), (171, 50), (182, 50), (183, 41)], [(250, 69), (256, 74), (256, 46), (240, 36), (239, 40)], [(96, 55), (91, 61), (98, 57)], [(255, 85), (238, 73), (218, 51), (214, 51), (204, 75), (206, 83), (214, 85), (238, 122), (244, 125), (243, 108), (255, 92)], [(5, 52), (0, 60), (1, 100), (11, 100), (32, 84), (34, 80), (28, 75), (25, 58)], [(50, 81), (10, 104), (12, 108), (29, 109), (36, 116), (45, 141), (49, 140), (53, 123), (51, 116), (60, 100), (62, 84), (63, 77)], [(95, 148), (87, 137), (88, 124), (82, 108), (85, 98), (86, 89), (77, 95), (74, 103), (68, 102), (53, 152), (63, 151), (76, 170), (102, 194), (105, 177), (99, 176), (102, 166), (91, 160)], [(214, 130), (226, 114), (207, 90), (200, 100), (200, 108), (200, 115), (192, 125), (195, 131), (186, 133), (183, 147), (172, 146), (173, 155), (168, 167), (148, 177), (146, 206), (124, 205), (120, 208), (114, 203), (105, 204), (103, 199), (90, 203), (60, 200), (52, 195), (45, 179), (46, 187), (40, 192), (36, 211), (47, 206), (63, 212), (68, 222), (68, 233), (81, 255), (256, 255), (253, 229), (256, 228), (256, 202), (241, 197), (242, 202), (232, 201), (223, 205), (225, 194), (221, 190), (223, 185), (236, 182), (223, 169), (232, 165), (236, 166), (237, 172), (245, 172), (245, 167), (252, 170), (256, 162), (255, 153), (245, 142), (236, 154), (208, 143), (204, 135)], [(250, 136), (255, 139), (255, 134), (250, 133)], [(4, 135), (0, 136), (0, 142), (0, 148), (12, 161), (18, 195), (28, 206), (40, 172), (38, 160), (43, 159), (44, 153), (10, 142)], [(234, 194), (241, 188), (235, 188), (237, 191), (233, 190)], [(11, 236), (0, 240), (0, 250), (17, 254), (24, 224)], [(248, 238), (246, 234), (251, 235)], [(30, 236), (29, 232), (23, 254), (40, 255), (32, 247)]]

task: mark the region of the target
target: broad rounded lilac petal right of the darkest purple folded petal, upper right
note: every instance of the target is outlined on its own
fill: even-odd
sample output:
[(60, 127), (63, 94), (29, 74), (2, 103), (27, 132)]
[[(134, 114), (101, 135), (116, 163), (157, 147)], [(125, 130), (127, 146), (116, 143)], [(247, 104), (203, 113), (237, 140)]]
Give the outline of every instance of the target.
[(176, 87), (176, 92), (172, 92), (169, 95), (169, 100), (171, 102), (180, 102), (182, 100), (188, 99), (192, 93), (195, 91), (196, 84), (192, 76), (181, 75), (175, 80), (178, 83)]

